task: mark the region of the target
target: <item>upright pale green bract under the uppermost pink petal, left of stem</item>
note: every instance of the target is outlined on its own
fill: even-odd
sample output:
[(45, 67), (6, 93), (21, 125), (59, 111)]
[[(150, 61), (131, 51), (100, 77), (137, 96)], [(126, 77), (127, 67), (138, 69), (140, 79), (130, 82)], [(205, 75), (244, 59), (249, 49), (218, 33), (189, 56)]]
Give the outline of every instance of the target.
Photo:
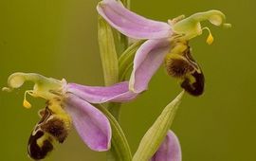
[(112, 28), (101, 16), (98, 18), (98, 41), (105, 85), (113, 85), (119, 81), (118, 55)]

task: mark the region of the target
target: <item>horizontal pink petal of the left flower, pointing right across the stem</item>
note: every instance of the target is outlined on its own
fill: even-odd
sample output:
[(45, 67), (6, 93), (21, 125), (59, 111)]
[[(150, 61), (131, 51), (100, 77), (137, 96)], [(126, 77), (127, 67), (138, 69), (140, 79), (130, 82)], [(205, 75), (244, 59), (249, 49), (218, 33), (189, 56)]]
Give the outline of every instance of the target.
[(106, 101), (124, 102), (137, 97), (137, 94), (129, 91), (128, 81), (107, 87), (68, 83), (67, 92), (90, 103), (103, 103)]

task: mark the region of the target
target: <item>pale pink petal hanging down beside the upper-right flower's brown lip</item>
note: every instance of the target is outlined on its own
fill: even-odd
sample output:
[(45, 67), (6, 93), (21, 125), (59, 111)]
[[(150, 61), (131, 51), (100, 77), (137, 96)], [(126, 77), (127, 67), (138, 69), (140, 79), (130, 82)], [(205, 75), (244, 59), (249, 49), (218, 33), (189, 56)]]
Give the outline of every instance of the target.
[(138, 48), (129, 82), (132, 91), (140, 93), (147, 89), (149, 81), (169, 50), (170, 42), (165, 39), (148, 40)]

